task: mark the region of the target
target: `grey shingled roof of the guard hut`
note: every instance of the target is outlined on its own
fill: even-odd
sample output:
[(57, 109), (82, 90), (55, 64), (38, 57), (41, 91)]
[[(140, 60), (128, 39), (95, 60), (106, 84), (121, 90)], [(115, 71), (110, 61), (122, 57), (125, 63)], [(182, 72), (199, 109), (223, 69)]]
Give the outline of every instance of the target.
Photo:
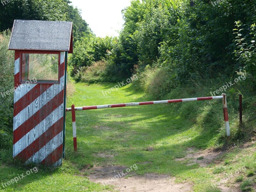
[(14, 20), (9, 49), (73, 53), (72, 22)]

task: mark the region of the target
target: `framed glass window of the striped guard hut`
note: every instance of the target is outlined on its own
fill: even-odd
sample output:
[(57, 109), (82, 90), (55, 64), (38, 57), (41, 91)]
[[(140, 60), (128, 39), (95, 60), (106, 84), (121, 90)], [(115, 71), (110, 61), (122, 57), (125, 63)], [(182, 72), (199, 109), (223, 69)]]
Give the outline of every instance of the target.
[(59, 53), (22, 53), (21, 82), (59, 82)]

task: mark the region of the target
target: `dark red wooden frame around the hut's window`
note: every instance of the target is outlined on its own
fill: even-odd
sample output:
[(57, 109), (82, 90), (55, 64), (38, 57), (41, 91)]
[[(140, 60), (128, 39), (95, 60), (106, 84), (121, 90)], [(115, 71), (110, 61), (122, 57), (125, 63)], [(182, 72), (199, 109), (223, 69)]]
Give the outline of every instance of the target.
[[(32, 79), (22, 80), (22, 54), (58, 54), (58, 80), (46, 80), (46, 79), (37, 79), (37, 82), (32, 81)], [(29, 66), (28, 66), (29, 74)], [(60, 84), (60, 52), (59, 51), (20, 51), (20, 83), (28, 82), (32, 84)]]

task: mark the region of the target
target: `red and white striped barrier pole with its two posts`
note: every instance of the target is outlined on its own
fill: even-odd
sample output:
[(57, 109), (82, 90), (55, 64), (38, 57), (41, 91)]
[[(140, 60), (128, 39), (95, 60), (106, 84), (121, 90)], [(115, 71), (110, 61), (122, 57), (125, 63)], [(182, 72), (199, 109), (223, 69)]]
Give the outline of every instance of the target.
[(178, 103), (178, 102), (187, 102), (187, 101), (216, 100), (216, 99), (222, 99), (226, 135), (230, 136), (229, 121), (228, 121), (227, 97), (226, 97), (225, 93), (222, 93), (221, 96), (214, 96), (214, 97), (199, 97), (199, 98), (188, 98), (188, 99), (161, 100), (161, 101), (148, 101), (148, 102), (136, 102), (136, 103), (121, 103), (121, 104), (96, 105), (96, 106), (87, 106), (87, 107), (75, 107), (75, 105), (72, 105), (71, 108), (66, 108), (66, 111), (72, 111), (74, 150), (75, 151), (77, 150), (76, 114), (75, 114), (75, 111), (92, 110), (92, 109), (104, 109), (104, 108), (131, 107), (131, 106), (153, 105), (153, 104), (164, 104), (164, 103)]

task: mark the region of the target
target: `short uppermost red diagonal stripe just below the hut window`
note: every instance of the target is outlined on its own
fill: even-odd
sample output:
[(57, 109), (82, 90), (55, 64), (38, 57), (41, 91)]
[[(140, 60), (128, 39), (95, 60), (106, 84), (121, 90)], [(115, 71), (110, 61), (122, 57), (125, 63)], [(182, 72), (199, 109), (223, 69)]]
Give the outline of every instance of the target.
[[(32, 103), (36, 97), (34, 92), (39, 92), (40, 91), (40, 84), (37, 84), (33, 89), (31, 89), (28, 93), (26, 93), (26, 95), (24, 95), (22, 98), (20, 98), (20, 100), (18, 100), (16, 103), (14, 103), (14, 111), (13, 111), (13, 116), (18, 115), (18, 113), (20, 113), (20, 111), (22, 111), (23, 109), (25, 109), (27, 107), (26, 105), (26, 101), (27, 101), (27, 97), (30, 98), (30, 103)], [(28, 104), (28, 105), (29, 105)]]

